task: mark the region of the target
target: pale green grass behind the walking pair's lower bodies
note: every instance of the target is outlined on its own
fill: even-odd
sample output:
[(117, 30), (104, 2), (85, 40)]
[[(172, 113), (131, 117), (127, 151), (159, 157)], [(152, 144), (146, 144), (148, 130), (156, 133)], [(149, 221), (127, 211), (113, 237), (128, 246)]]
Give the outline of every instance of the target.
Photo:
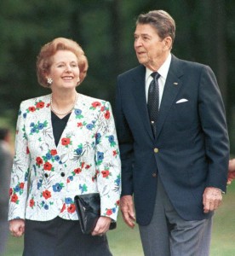
[[(235, 181), (228, 186), (221, 207), (215, 213), (210, 256), (235, 255)], [(139, 230), (129, 229), (118, 217), (117, 229), (108, 232), (113, 256), (142, 256)], [(4, 256), (22, 255), (22, 238), (9, 238)]]

